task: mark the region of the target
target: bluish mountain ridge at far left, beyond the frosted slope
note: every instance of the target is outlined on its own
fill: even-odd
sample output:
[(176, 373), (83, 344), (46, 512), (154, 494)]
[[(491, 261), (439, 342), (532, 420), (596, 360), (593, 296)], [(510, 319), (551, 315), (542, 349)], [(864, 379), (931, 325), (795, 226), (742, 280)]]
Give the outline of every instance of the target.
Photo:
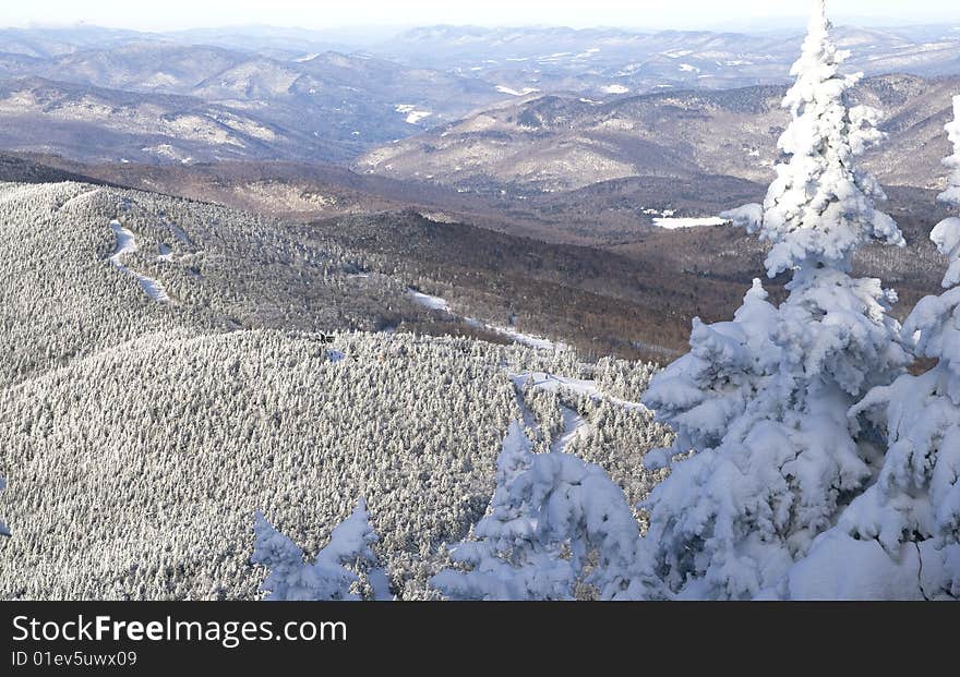
[(0, 147), (84, 161), (344, 161), (503, 96), (363, 56), (278, 61), (142, 40), (52, 59), (0, 55)]

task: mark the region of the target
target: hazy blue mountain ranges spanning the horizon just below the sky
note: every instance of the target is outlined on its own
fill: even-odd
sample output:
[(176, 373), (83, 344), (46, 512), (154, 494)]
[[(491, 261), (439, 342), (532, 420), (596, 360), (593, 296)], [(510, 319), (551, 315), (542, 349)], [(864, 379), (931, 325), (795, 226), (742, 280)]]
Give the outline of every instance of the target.
[[(836, 34), (854, 52), (851, 70), (960, 74), (957, 26)], [(779, 86), (799, 40), (782, 33), (563, 27), (433, 26), (379, 41), (264, 27), (0, 29), (0, 92), (8, 95), (0, 101), (0, 143), (83, 161), (349, 162), (431, 129), (476, 121), (477, 111), (538, 97), (557, 97), (572, 110), (602, 109), (643, 94)], [(14, 92), (25, 107), (10, 98)], [(135, 112), (129, 95), (136, 95)], [(82, 104), (87, 99), (89, 106)], [(550, 100), (530, 114), (543, 113)], [(197, 124), (184, 126), (197, 111)], [(682, 147), (647, 145), (667, 166), (698, 166), (675, 155)], [(617, 153), (586, 157), (600, 156), (607, 167), (599, 174), (632, 176)]]

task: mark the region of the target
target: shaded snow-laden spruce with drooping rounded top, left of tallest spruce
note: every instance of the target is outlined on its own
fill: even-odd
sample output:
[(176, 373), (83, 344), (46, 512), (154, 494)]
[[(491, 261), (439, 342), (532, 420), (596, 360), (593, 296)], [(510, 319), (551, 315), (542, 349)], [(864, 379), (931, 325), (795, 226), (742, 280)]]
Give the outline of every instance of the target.
[(580, 587), (612, 599), (631, 578), (639, 543), (623, 489), (574, 456), (533, 454), (519, 422), (504, 439), (496, 491), (473, 535), (452, 547), (465, 570), (431, 580), (449, 599), (573, 600)]

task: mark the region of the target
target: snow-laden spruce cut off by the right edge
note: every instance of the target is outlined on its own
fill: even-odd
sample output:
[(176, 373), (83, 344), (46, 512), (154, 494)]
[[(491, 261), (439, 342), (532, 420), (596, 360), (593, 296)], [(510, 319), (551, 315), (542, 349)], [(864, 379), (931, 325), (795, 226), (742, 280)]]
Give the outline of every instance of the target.
[[(955, 171), (940, 200), (960, 207), (960, 97), (955, 111), (946, 160)], [(794, 599), (960, 599), (960, 218), (931, 239), (949, 258), (948, 291), (921, 300), (903, 334), (937, 365), (876, 388), (851, 411), (887, 428), (884, 467), (791, 570)]]

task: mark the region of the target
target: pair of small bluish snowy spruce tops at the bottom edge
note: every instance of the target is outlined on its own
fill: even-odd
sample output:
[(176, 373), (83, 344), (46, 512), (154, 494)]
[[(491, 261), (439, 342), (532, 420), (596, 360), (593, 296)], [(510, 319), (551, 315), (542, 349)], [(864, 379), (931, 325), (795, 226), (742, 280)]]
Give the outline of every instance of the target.
[(391, 599), (386, 576), (372, 568), (376, 557), (370, 546), (380, 539), (370, 525), (367, 504), (361, 498), (346, 520), (331, 534), (329, 543), (307, 563), (303, 551), (279, 533), (260, 512), (254, 516), (255, 542), (250, 561), (269, 568), (262, 589), (271, 601), (307, 602), (321, 600), (358, 601), (351, 591), (359, 577), (347, 566), (371, 566), (368, 573), (372, 597)]

